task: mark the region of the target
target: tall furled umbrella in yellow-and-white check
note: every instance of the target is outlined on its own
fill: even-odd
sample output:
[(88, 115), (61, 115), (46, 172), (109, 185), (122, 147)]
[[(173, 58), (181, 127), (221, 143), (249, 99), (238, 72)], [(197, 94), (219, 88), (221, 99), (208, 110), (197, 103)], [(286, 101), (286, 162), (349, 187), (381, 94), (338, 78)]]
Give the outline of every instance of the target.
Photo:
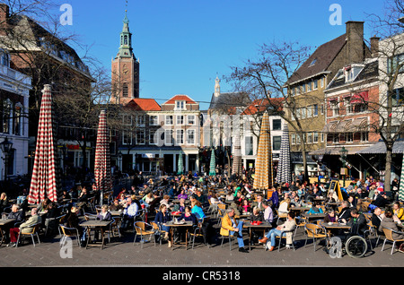
[(259, 149), (255, 163), (253, 188), (267, 191), (273, 185), (271, 134), (268, 112), (264, 113), (259, 132)]

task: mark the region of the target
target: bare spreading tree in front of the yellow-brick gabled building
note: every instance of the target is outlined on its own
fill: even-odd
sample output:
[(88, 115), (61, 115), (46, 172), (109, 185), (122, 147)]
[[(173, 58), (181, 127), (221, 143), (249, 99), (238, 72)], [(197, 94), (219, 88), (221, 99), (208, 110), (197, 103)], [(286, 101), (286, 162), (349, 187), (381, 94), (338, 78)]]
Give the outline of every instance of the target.
[[(289, 79), (307, 60), (309, 51), (310, 48), (295, 42), (263, 44), (259, 49), (257, 60), (248, 60), (242, 67), (233, 66), (232, 74), (228, 77), (237, 90), (249, 93), (252, 99), (268, 99), (268, 108), (273, 114), (285, 119), (300, 136), (305, 176), (308, 173), (306, 139), (298, 110), (303, 102), (307, 104), (312, 97), (303, 94), (294, 96), (293, 82), (290, 82)], [(278, 100), (273, 100), (275, 98), (282, 99), (281, 105)]]

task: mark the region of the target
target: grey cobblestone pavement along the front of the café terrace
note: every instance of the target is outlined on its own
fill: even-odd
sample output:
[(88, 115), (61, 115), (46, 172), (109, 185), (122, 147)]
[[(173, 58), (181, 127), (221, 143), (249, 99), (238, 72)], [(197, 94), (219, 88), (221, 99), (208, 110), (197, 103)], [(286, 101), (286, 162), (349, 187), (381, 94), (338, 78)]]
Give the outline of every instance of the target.
[[(247, 233), (244, 233), (246, 245)], [(227, 241), (222, 247), (218, 241), (208, 248), (197, 240), (194, 249), (184, 245), (175, 245), (172, 249), (165, 242), (162, 245), (154, 242), (145, 243), (143, 249), (136, 242), (134, 234), (127, 233), (125, 237), (111, 238), (110, 243), (100, 247), (79, 247), (72, 240), (71, 251), (60, 247), (59, 238), (41, 238), (41, 243), (34, 247), (31, 239), (27, 238), (22, 246), (0, 246), (0, 267), (154, 267), (154, 266), (187, 266), (187, 267), (260, 267), (260, 266), (344, 266), (344, 267), (390, 267), (403, 266), (404, 255), (395, 252), (391, 255), (391, 243), (382, 251), (382, 239), (379, 245), (362, 258), (351, 258), (344, 255), (341, 258), (331, 258), (323, 251), (323, 246), (314, 247), (312, 241), (304, 246), (303, 229), (299, 229), (295, 240), (296, 250), (282, 247), (280, 252), (266, 251), (262, 245), (251, 246), (250, 253), (240, 253), (237, 244), (233, 242), (230, 251)], [(373, 240), (373, 245), (375, 240)], [(248, 246), (246, 246), (248, 247)], [(70, 255), (71, 254), (71, 255)]]

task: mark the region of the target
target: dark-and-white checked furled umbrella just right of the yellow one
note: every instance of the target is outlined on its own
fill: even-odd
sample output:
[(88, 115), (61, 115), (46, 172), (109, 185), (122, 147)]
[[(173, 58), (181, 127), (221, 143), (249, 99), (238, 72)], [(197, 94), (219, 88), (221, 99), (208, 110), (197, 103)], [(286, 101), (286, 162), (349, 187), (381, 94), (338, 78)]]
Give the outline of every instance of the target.
[(277, 183), (291, 183), (292, 175), (290, 169), (289, 130), (287, 124), (285, 124), (281, 139), (279, 164), (277, 167)]

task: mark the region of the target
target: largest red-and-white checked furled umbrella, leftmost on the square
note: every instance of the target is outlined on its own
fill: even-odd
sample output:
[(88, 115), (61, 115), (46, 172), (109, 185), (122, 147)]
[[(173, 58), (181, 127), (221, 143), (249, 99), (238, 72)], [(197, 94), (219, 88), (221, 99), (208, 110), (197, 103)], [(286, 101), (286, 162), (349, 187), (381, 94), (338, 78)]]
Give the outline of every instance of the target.
[(52, 202), (57, 202), (57, 192), (61, 187), (52, 105), (51, 87), (46, 84), (42, 91), (37, 145), (32, 168), (30, 193), (28, 194), (28, 203), (31, 204), (40, 203), (45, 198)]

